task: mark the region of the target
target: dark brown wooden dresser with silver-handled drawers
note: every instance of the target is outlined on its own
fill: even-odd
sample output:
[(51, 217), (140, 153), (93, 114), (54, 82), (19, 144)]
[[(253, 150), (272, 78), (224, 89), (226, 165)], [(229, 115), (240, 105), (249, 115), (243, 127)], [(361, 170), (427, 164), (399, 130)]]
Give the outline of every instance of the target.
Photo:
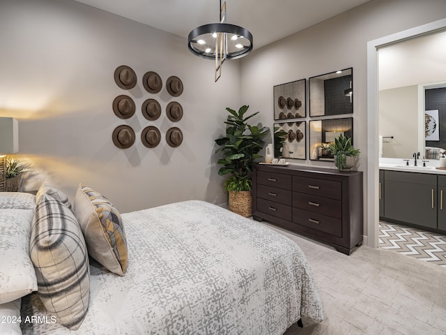
[(252, 216), (350, 255), (362, 244), (362, 171), (256, 164)]

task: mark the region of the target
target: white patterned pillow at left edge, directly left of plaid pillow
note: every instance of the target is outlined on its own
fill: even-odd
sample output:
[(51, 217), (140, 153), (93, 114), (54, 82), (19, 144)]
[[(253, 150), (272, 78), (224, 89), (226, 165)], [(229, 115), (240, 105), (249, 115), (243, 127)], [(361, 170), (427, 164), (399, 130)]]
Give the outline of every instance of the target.
[(0, 209), (0, 304), (37, 290), (29, 258), (30, 209)]

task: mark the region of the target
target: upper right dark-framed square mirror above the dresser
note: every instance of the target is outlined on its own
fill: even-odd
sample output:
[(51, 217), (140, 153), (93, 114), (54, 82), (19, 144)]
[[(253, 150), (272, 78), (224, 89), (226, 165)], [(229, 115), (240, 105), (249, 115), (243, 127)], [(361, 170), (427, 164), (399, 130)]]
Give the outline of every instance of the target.
[(309, 116), (353, 113), (353, 68), (309, 78)]

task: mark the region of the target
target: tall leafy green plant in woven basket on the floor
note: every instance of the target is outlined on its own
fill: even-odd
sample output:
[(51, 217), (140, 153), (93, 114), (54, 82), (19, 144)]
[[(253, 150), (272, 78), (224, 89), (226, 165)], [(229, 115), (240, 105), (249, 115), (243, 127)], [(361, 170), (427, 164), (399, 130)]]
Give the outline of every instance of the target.
[(265, 143), (262, 138), (269, 131), (268, 127), (251, 126), (248, 119), (259, 114), (245, 117), (249, 106), (243, 105), (238, 112), (226, 108), (229, 115), (224, 122), (226, 124), (226, 136), (218, 138), (215, 143), (220, 146), (215, 152), (222, 151), (224, 158), (220, 158), (217, 164), (223, 165), (218, 174), (223, 176), (231, 174), (224, 182), (224, 188), (229, 193), (229, 210), (245, 217), (252, 216), (252, 163), (256, 158), (261, 158), (259, 151)]

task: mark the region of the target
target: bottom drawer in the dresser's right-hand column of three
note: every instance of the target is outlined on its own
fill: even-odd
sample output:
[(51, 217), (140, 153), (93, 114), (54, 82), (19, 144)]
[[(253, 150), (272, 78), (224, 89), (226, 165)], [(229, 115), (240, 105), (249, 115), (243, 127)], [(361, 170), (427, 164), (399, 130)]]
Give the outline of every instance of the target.
[(342, 221), (339, 218), (293, 208), (293, 223), (342, 237)]

